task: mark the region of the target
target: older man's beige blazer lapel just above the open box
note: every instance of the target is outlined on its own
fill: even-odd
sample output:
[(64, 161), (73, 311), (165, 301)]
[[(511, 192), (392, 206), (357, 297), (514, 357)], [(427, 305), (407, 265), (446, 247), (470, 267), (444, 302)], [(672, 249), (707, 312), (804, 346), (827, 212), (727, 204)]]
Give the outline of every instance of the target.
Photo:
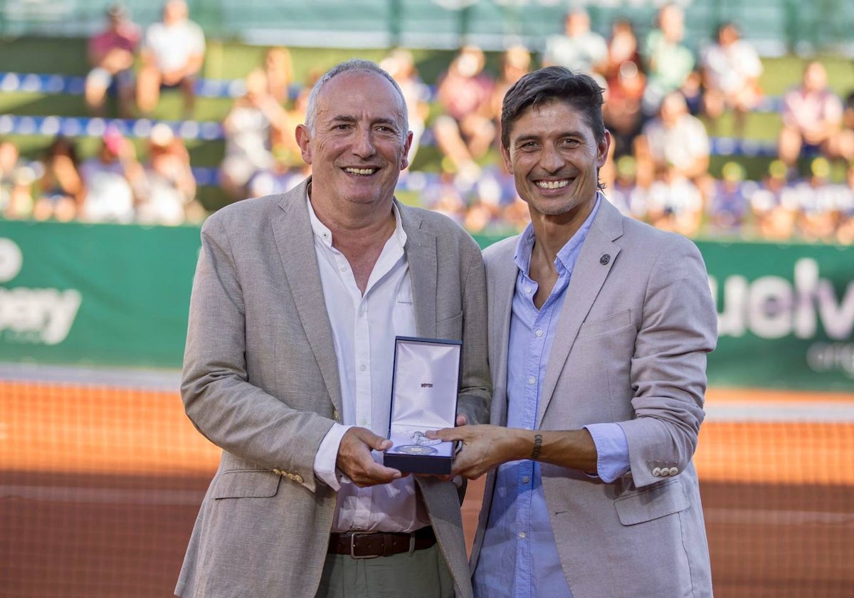
[(395, 200), (401, 213), (401, 224), (407, 233), (404, 251), (412, 280), (412, 302), (415, 308), (415, 327), (419, 337), (436, 337), (436, 294), (438, 291), (438, 247), (436, 235), (421, 228), (422, 220), (416, 210)]

